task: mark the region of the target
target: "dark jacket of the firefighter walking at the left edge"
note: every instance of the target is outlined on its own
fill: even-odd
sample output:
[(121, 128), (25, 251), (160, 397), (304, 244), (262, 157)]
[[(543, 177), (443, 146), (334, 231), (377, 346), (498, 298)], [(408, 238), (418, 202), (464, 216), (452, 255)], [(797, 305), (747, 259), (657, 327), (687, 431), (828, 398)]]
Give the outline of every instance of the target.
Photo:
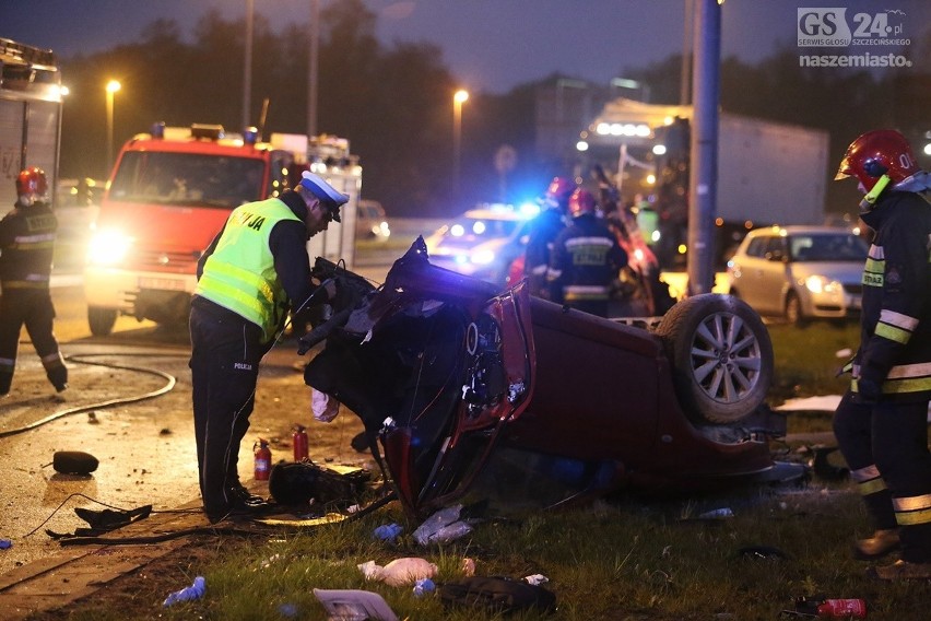
[(0, 281), (4, 290), (48, 289), (58, 220), (47, 202), (16, 207), (0, 220)]

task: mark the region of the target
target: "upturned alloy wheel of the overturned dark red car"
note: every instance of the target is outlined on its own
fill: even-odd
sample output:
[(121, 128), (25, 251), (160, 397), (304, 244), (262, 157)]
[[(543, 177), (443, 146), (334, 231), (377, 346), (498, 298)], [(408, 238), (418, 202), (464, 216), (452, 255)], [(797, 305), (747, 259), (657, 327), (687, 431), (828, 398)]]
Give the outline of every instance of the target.
[(706, 293), (679, 302), (656, 333), (672, 363), (676, 396), (699, 423), (732, 423), (750, 415), (773, 380), (773, 343), (745, 302)]

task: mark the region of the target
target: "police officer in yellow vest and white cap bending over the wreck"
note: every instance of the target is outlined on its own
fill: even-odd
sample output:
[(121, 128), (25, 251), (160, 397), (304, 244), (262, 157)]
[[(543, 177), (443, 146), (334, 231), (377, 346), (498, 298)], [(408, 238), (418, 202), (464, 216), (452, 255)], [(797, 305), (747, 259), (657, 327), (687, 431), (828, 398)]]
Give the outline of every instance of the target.
[(288, 310), (299, 318), (334, 293), (311, 282), (306, 244), (340, 222), (347, 200), (305, 172), (294, 190), (233, 210), (198, 262), (190, 367), (200, 491), (211, 523), (267, 506), (239, 482), (237, 469), (259, 363)]

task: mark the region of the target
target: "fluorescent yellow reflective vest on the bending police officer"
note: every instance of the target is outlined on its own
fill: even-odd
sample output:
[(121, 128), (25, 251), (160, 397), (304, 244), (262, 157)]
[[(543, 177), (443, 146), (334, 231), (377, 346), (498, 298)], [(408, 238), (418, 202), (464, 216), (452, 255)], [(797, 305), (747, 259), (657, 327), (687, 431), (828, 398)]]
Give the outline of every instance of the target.
[(262, 328), (263, 342), (275, 336), (288, 309), (270, 244), (272, 230), (283, 221), (300, 219), (276, 198), (234, 209), (195, 290)]

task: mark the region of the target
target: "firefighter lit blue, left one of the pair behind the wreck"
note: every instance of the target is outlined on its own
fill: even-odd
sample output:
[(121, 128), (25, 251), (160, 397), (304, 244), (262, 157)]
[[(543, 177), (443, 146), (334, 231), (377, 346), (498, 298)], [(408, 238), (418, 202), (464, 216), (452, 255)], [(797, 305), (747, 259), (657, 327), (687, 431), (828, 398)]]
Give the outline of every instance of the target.
[(523, 276), (530, 295), (549, 297), (546, 270), (550, 267), (550, 254), (553, 242), (566, 227), (569, 197), (576, 190), (576, 184), (565, 177), (553, 177), (543, 198), (543, 211), (530, 224), (530, 237), (523, 259)]

